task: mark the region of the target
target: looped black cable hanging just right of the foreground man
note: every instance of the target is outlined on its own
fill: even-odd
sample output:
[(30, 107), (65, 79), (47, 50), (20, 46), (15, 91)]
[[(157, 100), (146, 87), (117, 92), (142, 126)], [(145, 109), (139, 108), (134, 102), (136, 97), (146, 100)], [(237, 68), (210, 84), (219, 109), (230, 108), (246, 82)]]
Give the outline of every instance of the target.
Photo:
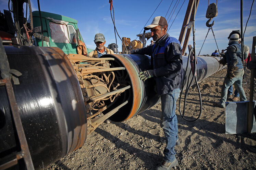
[[(196, 2), (194, 3), (194, 10), (196, 10)], [(200, 93), (200, 89), (199, 89), (199, 85), (198, 85), (198, 82), (197, 82), (197, 78), (195, 76), (196, 74), (196, 50), (195, 50), (195, 11), (194, 11), (194, 17), (193, 17), (193, 48), (190, 49), (190, 52), (189, 52), (189, 55), (188, 55), (188, 58), (187, 58), (187, 66), (186, 66), (186, 71), (184, 73), (184, 75), (186, 75), (186, 72), (187, 72), (187, 67), (188, 67), (188, 59), (191, 55), (191, 52), (193, 51), (194, 52), (194, 74), (193, 74), (193, 77), (189, 83), (189, 77), (190, 77), (190, 74), (192, 72), (192, 69), (190, 70), (190, 73), (189, 73), (189, 76), (188, 76), (188, 81), (187, 81), (187, 87), (186, 87), (186, 91), (185, 91), (185, 96), (184, 96), (184, 105), (183, 105), (183, 113), (181, 113), (180, 111), (180, 101), (179, 101), (179, 112), (180, 112), (180, 115), (182, 116), (182, 119), (184, 119), (185, 121), (188, 121), (188, 122), (195, 122), (197, 121), (200, 116), (201, 116), (201, 113), (202, 113), (202, 99), (201, 99), (201, 93)], [(193, 50), (192, 50), (193, 49)], [(187, 93), (189, 91), (189, 88), (191, 87), (192, 85), (192, 81), (193, 79), (195, 79), (195, 83), (196, 83), (196, 87), (197, 87), (197, 90), (198, 90), (198, 94), (199, 94), (199, 100), (200, 100), (200, 111), (199, 111), (199, 115), (197, 116), (197, 118), (195, 119), (186, 119), (184, 118), (184, 115), (185, 115), (185, 109), (186, 109), (186, 97), (187, 97)], [(188, 85), (189, 83), (189, 85)], [(182, 88), (181, 90), (183, 89), (184, 87), (184, 78), (183, 78), (183, 81), (182, 81)], [(180, 100), (181, 100), (181, 95), (180, 95)]]

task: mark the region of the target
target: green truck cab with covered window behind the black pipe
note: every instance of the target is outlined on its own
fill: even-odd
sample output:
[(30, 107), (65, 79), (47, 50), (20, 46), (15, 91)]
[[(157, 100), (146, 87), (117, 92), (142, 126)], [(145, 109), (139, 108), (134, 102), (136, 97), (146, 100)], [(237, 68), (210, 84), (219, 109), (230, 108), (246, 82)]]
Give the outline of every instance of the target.
[[(39, 11), (33, 11), (34, 32), (41, 34)], [(59, 14), (41, 11), (43, 35), (49, 39), (43, 41), (43, 46), (59, 47), (65, 54), (77, 54), (77, 41), (83, 38), (77, 27), (77, 20)], [(77, 39), (78, 36), (78, 39)], [(42, 46), (41, 39), (34, 39), (35, 46)], [(93, 49), (87, 48), (87, 52)]]

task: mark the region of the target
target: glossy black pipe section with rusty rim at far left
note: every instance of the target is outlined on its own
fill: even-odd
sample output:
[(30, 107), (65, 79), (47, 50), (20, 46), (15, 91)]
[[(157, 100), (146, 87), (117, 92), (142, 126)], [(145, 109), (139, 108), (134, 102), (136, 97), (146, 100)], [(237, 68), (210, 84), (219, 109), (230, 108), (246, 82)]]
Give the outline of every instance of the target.
[[(35, 169), (81, 147), (87, 122), (81, 88), (59, 48), (5, 46), (11, 69), (22, 73), (14, 95)], [(4, 86), (0, 86), (0, 158), (19, 149)]]

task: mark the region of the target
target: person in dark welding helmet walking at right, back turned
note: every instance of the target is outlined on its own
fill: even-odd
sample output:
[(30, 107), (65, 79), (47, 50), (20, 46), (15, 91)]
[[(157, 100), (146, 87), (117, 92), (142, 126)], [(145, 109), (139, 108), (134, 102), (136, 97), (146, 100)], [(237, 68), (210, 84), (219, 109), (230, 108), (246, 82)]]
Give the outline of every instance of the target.
[[(241, 101), (247, 101), (244, 89), (242, 87), (242, 80), (244, 75), (243, 63), (242, 63), (242, 52), (241, 44), (241, 33), (239, 30), (232, 31), (229, 34), (229, 46), (225, 53), (225, 59), (228, 64), (227, 75), (225, 76), (223, 85), (221, 87), (221, 99), (219, 102), (215, 102), (214, 105), (220, 108), (225, 108), (225, 102), (227, 100), (228, 88), (234, 83), (235, 89), (240, 94)], [(221, 63), (221, 62), (220, 62)], [(223, 64), (223, 63), (222, 63)]]

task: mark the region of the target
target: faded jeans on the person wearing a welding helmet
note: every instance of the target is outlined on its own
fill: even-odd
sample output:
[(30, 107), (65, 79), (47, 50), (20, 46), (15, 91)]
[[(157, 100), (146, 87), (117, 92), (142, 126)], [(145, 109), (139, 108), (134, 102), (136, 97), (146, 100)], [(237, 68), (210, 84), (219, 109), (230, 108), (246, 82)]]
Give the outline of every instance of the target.
[(235, 77), (232, 79), (229, 79), (228, 77), (225, 77), (223, 85), (221, 87), (221, 99), (220, 104), (225, 107), (225, 102), (227, 100), (227, 94), (228, 94), (228, 88), (234, 84), (235, 89), (237, 89), (238, 93), (240, 94), (240, 101), (247, 101), (244, 89), (242, 87), (242, 80), (244, 75), (243, 69), (238, 69), (234, 71)]

